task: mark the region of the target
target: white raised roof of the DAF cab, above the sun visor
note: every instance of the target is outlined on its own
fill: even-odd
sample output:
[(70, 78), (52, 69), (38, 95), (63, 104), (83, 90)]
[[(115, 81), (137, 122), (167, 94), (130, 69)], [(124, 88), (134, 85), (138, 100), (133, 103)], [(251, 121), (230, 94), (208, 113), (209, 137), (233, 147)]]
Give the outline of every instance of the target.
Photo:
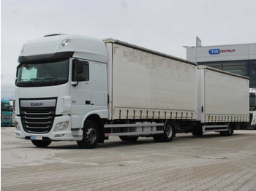
[[(70, 39), (69, 44), (60, 47), (64, 39)], [(72, 34), (46, 35), (39, 39), (32, 39), (23, 46), (20, 56), (45, 55), (56, 52), (74, 52), (76, 58), (86, 58), (91, 61), (107, 63), (108, 55), (102, 39)]]

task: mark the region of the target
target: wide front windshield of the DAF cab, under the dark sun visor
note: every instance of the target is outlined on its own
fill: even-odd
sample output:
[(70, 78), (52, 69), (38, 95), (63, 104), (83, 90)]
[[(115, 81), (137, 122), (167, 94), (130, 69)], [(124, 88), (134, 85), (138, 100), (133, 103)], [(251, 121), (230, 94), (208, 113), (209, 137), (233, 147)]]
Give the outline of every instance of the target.
[(39, 87), (62, 85), (68, 82), (69, 60), (20, 63), (18, 66), (18, 87)]

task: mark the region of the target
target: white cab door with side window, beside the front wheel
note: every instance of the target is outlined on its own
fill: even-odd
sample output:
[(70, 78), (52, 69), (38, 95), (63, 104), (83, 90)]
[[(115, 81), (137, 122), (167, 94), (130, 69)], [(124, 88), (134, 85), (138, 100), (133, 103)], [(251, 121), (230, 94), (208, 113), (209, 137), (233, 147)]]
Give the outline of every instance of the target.
[(81, 128), (83, 117), (91, 111), (90, 62), (72, 60), (72, 128)]

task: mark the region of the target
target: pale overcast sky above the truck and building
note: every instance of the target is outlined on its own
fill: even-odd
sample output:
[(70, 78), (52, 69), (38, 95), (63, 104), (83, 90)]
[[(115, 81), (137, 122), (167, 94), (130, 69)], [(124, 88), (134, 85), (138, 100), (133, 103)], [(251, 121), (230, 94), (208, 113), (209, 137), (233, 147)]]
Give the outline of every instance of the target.
[(15, 97), (23, 44), (45, 34), (111, 37), (186, 59), (186, 48), (256, 42), (255, 0), (1, 0), (1, 98)]

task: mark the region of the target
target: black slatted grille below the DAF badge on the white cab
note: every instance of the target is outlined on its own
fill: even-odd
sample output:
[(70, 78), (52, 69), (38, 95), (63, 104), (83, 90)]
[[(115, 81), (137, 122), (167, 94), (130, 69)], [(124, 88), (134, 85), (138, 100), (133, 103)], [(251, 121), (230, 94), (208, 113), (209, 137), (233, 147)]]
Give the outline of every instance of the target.
[[(42, 100), (41, 100), (42, 101)], [(56, 117), (56, 106), (22, 107), (20, 117), (23, 129), (27, 133), (48, 133)]]

